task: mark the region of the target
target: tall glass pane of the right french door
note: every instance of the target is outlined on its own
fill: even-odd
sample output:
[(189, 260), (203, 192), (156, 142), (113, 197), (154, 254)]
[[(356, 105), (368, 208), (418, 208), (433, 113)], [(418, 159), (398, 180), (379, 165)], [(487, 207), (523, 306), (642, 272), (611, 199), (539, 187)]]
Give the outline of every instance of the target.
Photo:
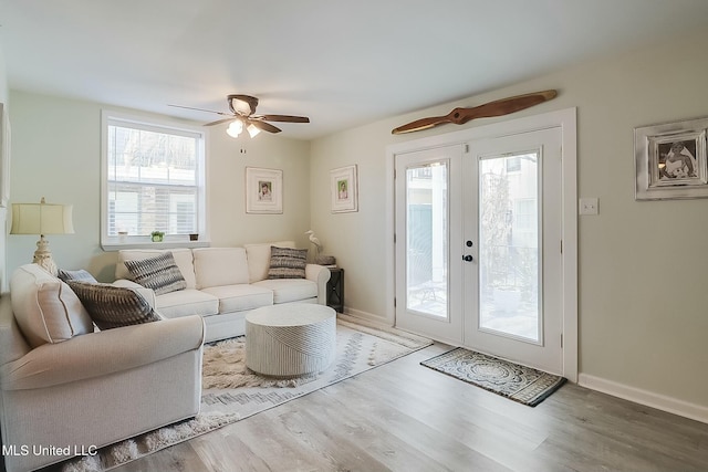
[(540, 342), (539, 154), (479, 162), (479, 325)]

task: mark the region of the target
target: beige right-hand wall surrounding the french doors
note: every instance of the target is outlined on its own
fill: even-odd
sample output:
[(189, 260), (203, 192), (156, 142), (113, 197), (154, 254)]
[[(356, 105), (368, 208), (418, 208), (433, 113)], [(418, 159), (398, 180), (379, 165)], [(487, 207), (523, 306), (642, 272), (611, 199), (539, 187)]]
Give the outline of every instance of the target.
[[(383, 317), (392, 303), (384, 265), (392, 237), (384, 203), (393, 186), (386, 146), (460, 127), (400, 136), (391, 129), (455, 106), (556, 88), (558, 98), (512, 117), (577, 107), (579, 195), (600, 198), (600, 216), (579, 221), (580, 371), (687, 402), (708, 419), (708, 376), (701, 374), (708, 359), (708, 200), (635, 201), (633, 138), (638, 126), (708, 116), (706, 44), (708, 33), (700, 33), (314, 140), (312, 227), (345, 269), (346, 307)], [(360, 167), (360, 211), (332, 214), (329, 171), (352, 164)]]

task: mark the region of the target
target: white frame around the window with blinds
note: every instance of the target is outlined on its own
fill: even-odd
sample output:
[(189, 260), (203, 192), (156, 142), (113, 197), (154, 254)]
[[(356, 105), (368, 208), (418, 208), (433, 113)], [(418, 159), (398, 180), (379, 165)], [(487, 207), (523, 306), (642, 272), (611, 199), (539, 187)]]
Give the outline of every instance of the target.
[[(198, 208), (197, 228), (199, 239), (190, 241), (187, 234), (166, 234), (163, 242), (153, 242), (149, 235), (108, 235), (108, 126), (116, 122), (125, 122), (127, 126), (136, 126), (144, 129), (153, 128), (159, 132), (174, 130), (176, 134), (197, 135), (199, 146), (197, 147), (197, 187)], [(128, 115), (119, 112), (104, 109), (101, 112), (101, 247), (105, 251), (119, 249), (174, 249), (174, 248), (199, 248), (209, 245), (208, 221), (207, 221), (207, 132), (199, 127), (192, 127), (184, 123), (170, 122), (168, 119)]]

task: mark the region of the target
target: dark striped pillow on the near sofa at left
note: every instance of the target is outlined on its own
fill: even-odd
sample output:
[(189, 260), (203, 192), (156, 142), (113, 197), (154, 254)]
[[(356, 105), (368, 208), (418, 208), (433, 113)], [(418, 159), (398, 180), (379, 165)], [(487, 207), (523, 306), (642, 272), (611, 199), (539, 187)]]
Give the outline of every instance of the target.
[(133, 289), (74, 281), (69, 285), (101, 329), (162, 319), (143, 295)]

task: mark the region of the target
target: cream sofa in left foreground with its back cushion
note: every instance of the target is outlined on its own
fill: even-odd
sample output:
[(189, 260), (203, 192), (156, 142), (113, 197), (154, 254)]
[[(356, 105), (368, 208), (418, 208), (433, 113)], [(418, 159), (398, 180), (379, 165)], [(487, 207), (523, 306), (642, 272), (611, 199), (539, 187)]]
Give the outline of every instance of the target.
[(198, 316), (95, 332), (66, 283), (20, 266), (0, 297), (6, 470), (34, 470), (194, 417), (202, 343)]

